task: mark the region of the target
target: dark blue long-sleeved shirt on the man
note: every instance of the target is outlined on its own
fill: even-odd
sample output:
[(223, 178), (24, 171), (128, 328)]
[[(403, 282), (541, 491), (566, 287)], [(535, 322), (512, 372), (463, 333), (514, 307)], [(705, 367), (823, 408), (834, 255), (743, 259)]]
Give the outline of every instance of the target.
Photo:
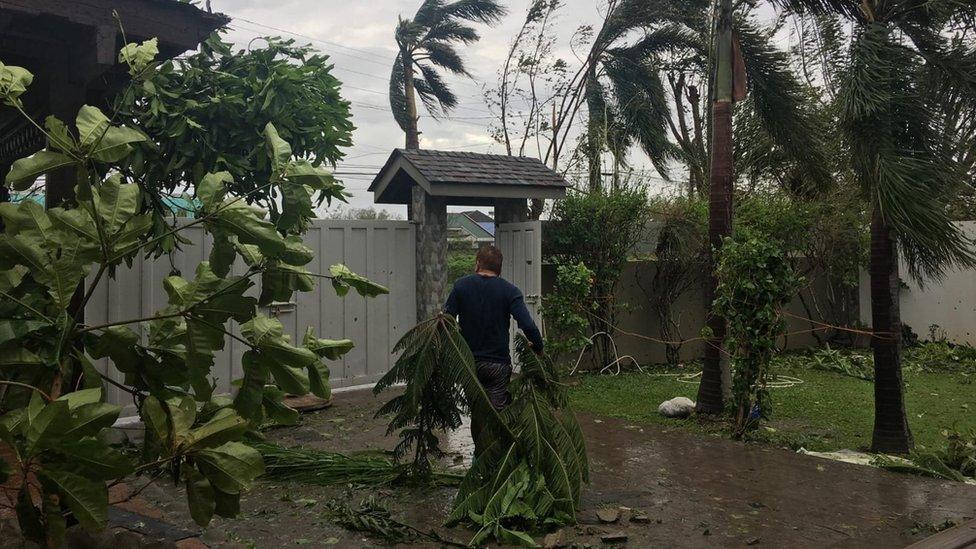
[(529, 315), (522, 292), (500, 276), (468, 275), (454, 283), (444, 305), (447, 314), (460, 320), (461, 335), (479, 362), (511, 364), (509, 319), (542, 352), (542, 334)]

